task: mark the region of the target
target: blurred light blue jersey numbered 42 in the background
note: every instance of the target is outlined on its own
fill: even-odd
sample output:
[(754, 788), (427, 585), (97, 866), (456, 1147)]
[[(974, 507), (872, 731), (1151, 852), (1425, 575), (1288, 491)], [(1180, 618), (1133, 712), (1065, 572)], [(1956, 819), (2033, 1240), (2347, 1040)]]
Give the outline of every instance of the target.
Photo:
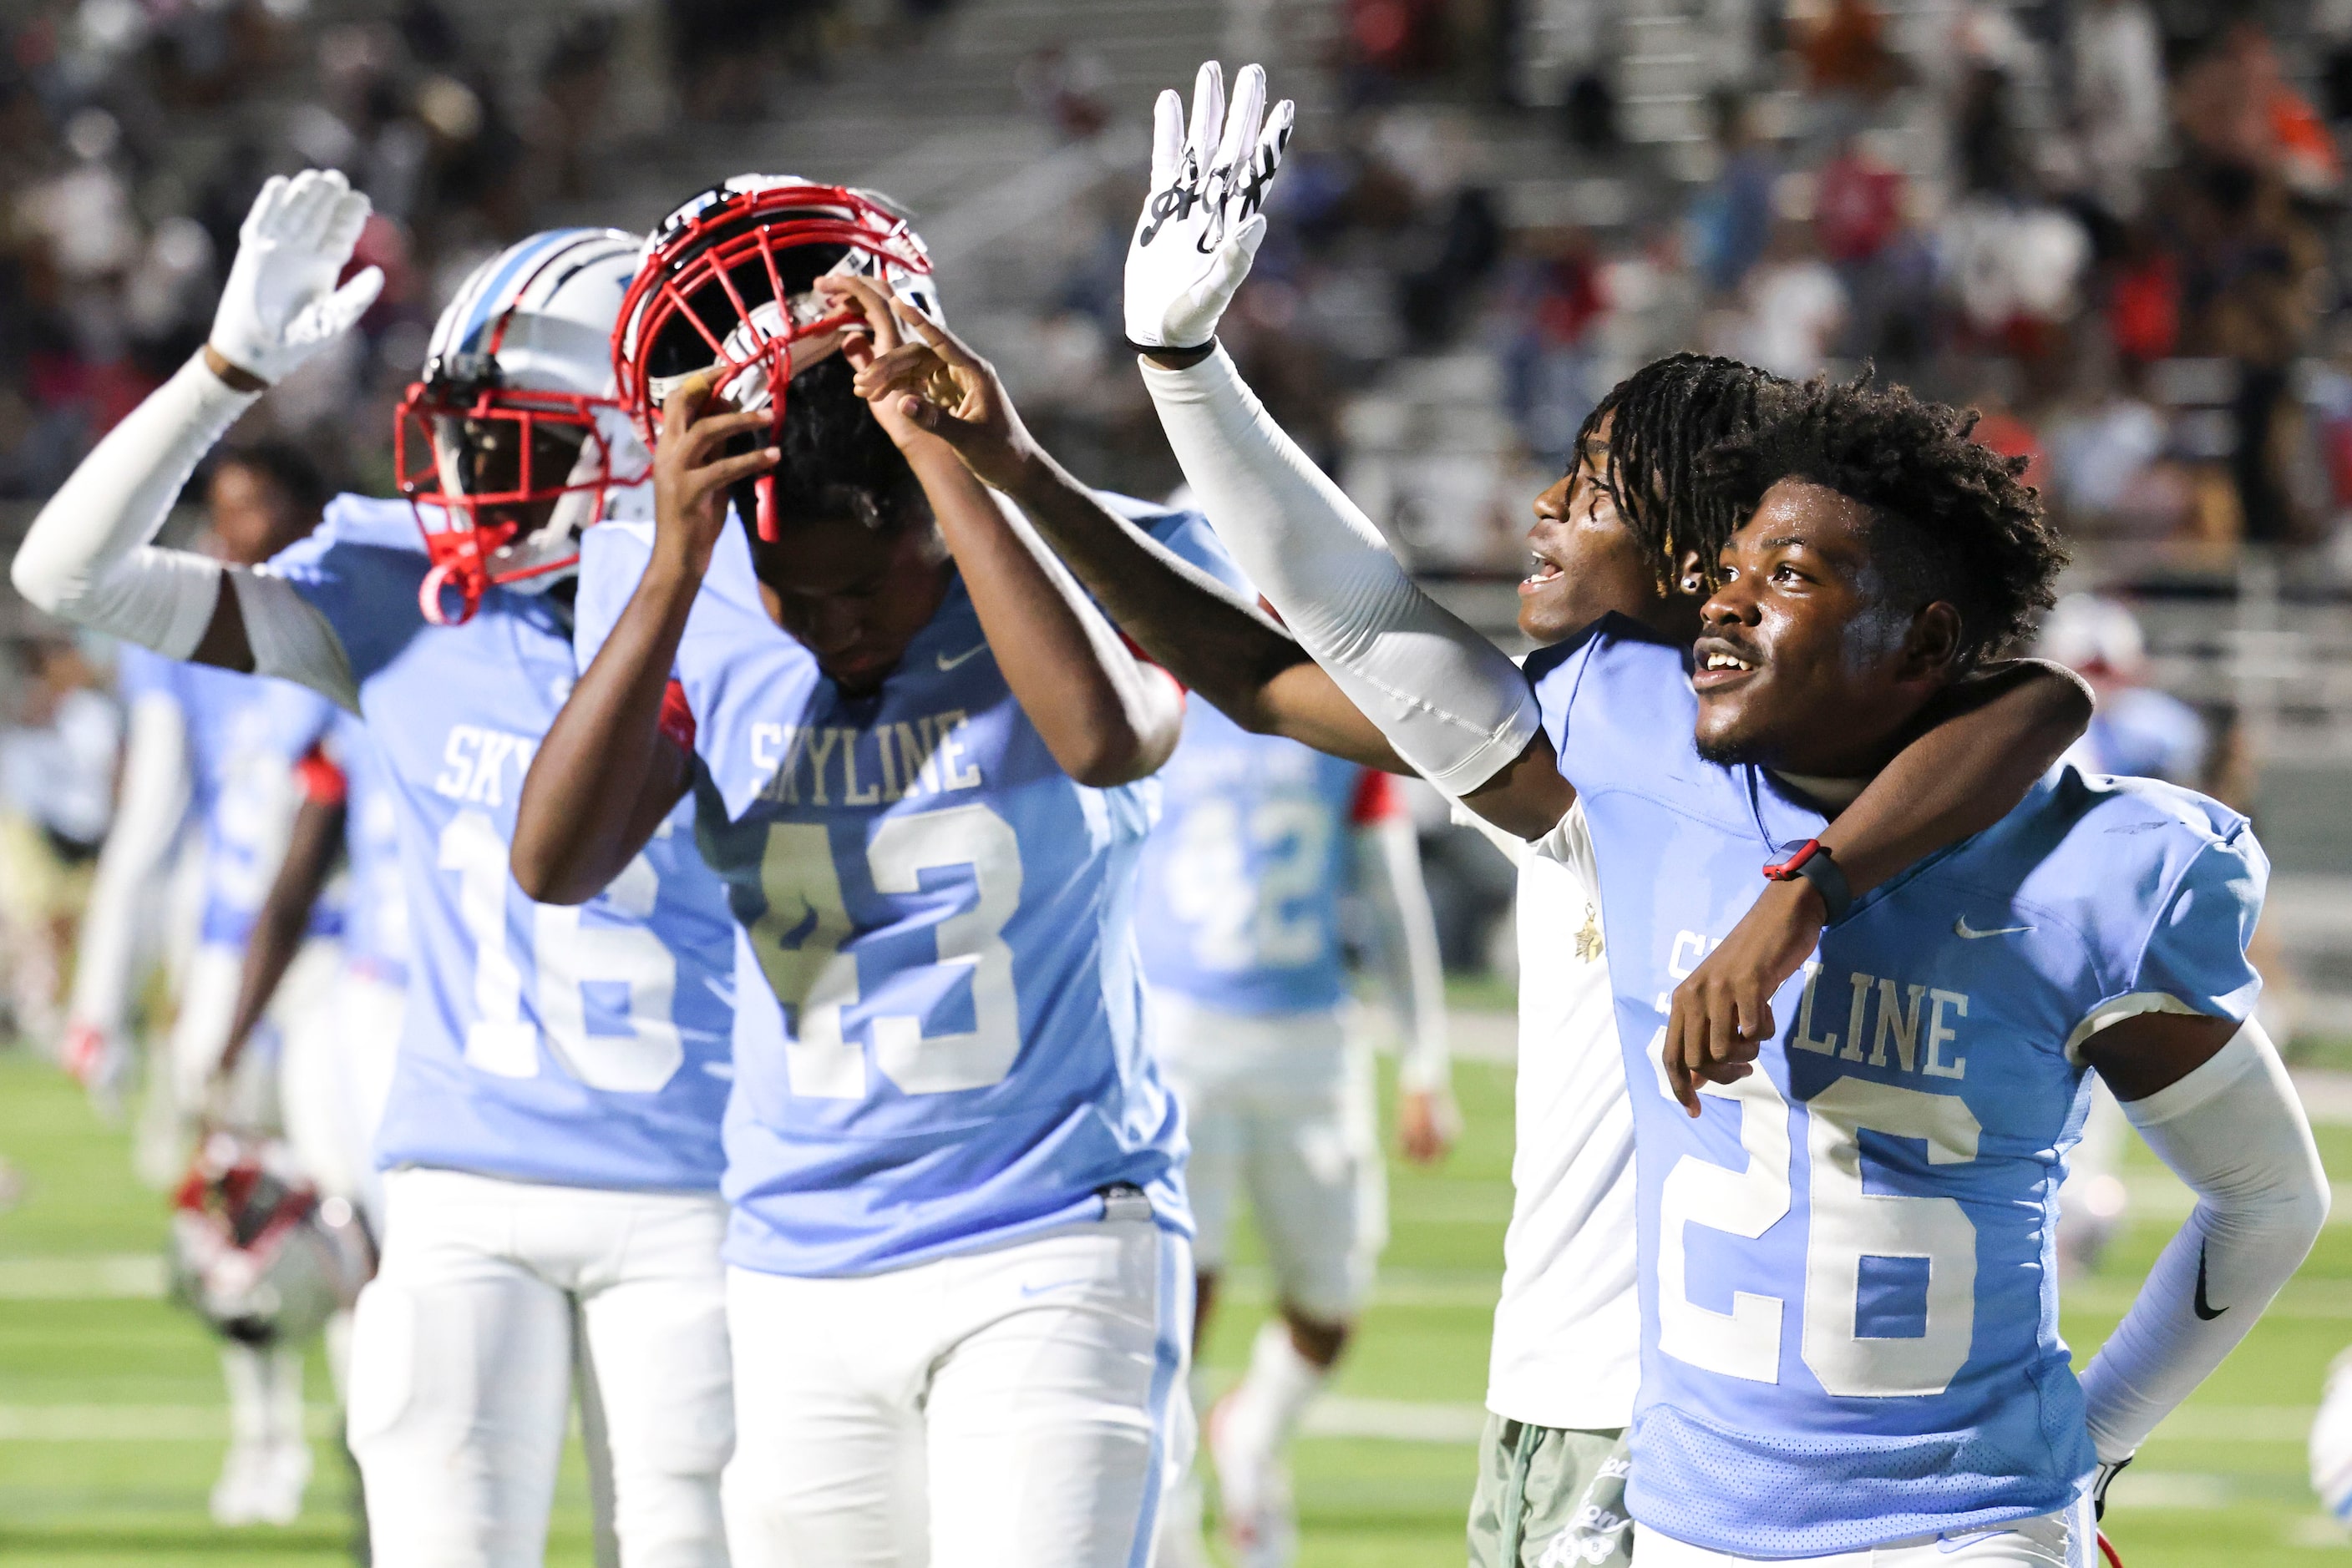
[(1352, 830), (1367, 799), (1385, 804), (1383, 785), (1352, 762), (1254, 736), (1190, 703), (1143, 849), (1143, 978), (1228, 1013), (1338, 1006)]

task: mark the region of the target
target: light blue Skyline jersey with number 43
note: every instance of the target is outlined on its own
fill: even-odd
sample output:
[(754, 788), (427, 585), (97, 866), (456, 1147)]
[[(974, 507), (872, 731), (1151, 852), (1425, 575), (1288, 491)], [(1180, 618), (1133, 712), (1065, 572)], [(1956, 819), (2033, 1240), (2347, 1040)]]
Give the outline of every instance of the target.
[[(1230, 574), (1197, 517), (1122, 505)], [(649, 548), (649, 524), (588, 531), (581, 668)], [(842, 696), (762, 609), (741, 527), (675, 677), (739, 922), (729, 1262), (901, 1267), (1096, 1218), (1112, 1185), (1190, 1229), (1129, 929), (1157, 780), (1054, 764), (962, 581), (877, 693)]]

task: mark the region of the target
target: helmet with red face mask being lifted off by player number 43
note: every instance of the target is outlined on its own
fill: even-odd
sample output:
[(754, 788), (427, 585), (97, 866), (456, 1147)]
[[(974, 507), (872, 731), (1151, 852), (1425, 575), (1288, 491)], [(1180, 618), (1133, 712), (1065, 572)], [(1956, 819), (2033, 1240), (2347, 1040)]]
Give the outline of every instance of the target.
[[(938, 317), (931, 254), (887, 197), (790, 174), (739, 174), (663, 219), (612, 334), (614, 386), (647, 447), (680, 378), (720, 367), (715, 393), (783, 430), (793, 374), (830, 355), (854, 317), (814, 282), (873, 277)], [(757, 480), (760, 538), (776, 536), (774, 480)]]

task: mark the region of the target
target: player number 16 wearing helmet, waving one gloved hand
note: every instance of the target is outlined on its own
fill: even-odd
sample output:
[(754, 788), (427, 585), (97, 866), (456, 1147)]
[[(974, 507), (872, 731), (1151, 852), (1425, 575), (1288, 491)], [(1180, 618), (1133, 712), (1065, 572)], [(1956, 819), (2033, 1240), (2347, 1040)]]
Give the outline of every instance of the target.
[(684, 809), (583, 907), (506, 870), (574, 679), (576, 531), (647, 489), (604, 353), (637, 240), (532, 235), (466, 280), (402, 404), (412, 501), (339, 496), (259, 571), (146, 543), (221, 430), (374, 299), (372, 268), (336, 287), (365, 219), (341, 174), (263, 186), (205, 353), (75, 470), (12, 576), (169, 656), (303, 682), (379, 748), (409, 987), (353, 1335), (374, 1559), (536, 1563), (579, 1363), (619, 1561), (724, 1563), (727, 910)]

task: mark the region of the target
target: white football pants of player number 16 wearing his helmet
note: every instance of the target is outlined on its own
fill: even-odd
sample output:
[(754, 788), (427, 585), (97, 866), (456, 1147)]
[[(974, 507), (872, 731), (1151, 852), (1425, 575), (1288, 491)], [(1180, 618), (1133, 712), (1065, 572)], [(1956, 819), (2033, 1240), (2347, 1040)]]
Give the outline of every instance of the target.
[(727, 1204), (419, 1168), (383, 1199), (350, 1345), (376, 1566), (543, 1561), (574, 1361), (623, 1568), (724, 1566)]

